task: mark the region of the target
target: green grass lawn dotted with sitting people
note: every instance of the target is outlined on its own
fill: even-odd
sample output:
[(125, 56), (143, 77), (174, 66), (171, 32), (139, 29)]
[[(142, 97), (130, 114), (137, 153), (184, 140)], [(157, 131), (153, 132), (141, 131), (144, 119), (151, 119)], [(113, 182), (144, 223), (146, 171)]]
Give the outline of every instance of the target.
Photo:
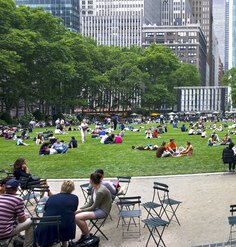
[[(133, 125), (139, 127), (140, 125)], [(149, 127), (150, 125), (141, 125)], [(152, 126), (155, 126), (152, 124)], [(179, 123), (179, 126), (181, 124)], [(53, 129), (54, 130), (54, 129)], [(87, 135), (87, 142), (82, 144), (80, 131), (70, 131), (67, 135), (56, 135), (66, 143), (71, 136), (79, 142), (79, 147), (69, 149), (67, 154), (39, 156), (39, 147), (32, 140), (37, 132), (45, 129), (34, 129), (31, 139), (26, 140), (29, 146), (16, 146), (15, 141), (0, 138), (0, 169), (9, 170), (9, 165), (17, 158), (24, 157), (30, 172), (43, 178), (87, 178), (97, 168), (103, 168), (106, 177), (116, 176), (156, 176), (173, 174), (195, 174), (224, 171), (221, 154), (224, 146), (209, 147), (207, 139), (199, 135), (189, 136), (180, 129), (173, 129), (168, 125), (168, 132), (161, 134), (158, 139), (146, 139), (145, 129), (141, 132), (126, 131), (122, 144), (102, 145), (100, 139)], [(115, 131), (118, 133), (119, 131)], [(211, 133), (207, 130), (207, 134)], [(219, 132), (220, 138), (227, 133), (227, 129)], [(133, 150), (132, 145), (160, 145), (162, 141), (174, 138), (178, 147), (185, 146), (191, 141), (194, 151), (191, 157), (156, 158), (155, 151)], [(235, 142), (235, 137), (231, 135)], [(1, 174), (0, 174), (1, 175)]]

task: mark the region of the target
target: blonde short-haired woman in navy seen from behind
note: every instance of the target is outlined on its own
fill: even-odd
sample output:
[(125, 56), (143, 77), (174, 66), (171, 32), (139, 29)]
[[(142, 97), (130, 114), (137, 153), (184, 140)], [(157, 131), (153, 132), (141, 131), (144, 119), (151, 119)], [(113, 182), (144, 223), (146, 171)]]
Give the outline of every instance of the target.
[[(61, 185), (61, 192), (50, 196), (45, 205), (44, 216), (61, 216), (59, 233), (62, 247), (66, 247), (67, 242), (75, 238), (75, 212), (79, 204), (79, 199), (76, 195), (72, 194), (74, 189), (74, 182), (65, 180)], [(36, 242), (39, 246), (53, 245), (56, 239), (56, 226), (37, 227)]]

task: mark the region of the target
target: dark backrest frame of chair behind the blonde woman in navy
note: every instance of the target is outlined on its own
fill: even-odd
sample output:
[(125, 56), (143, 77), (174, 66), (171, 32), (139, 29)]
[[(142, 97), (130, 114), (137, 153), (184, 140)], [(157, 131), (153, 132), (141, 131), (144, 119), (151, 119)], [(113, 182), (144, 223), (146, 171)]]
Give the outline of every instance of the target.
[[(34, 229), (34, 242), (37, 243), (37, 238), (36, 238), (36, 227), (37, 226), (55, 226), (57, 230), (57, 239), (56, 243), (60, 243), (60, 231), (59, 227), (61, 224), (61, 216), (43, 216), (43, 217), (32, 217), (32, 224), (33, 224), (33, 229)], [(60, 243), (60, 246), (61, 243)]]

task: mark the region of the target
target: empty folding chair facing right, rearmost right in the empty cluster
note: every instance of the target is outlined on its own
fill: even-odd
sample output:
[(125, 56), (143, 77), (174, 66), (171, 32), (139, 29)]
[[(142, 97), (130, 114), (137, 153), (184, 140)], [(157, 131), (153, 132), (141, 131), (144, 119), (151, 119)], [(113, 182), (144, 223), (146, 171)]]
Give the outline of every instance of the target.
[(159, 212), (160, 217), (165, 214), (169, 224), (171, 223), (172, 219), (175, 218), (176, 222), (180, 225), (176, 211), (182, 202), (171, 199), (169, 197), (169, 186), (167, 184), (154, 182), (154, 186), (157, 187), (157, 195), (161, 204), (161, 210)]

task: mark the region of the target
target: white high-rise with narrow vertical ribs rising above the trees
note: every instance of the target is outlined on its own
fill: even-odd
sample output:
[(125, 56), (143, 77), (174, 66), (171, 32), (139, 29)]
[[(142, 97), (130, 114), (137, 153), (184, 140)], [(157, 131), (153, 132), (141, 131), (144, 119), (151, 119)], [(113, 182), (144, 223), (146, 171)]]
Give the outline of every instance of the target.
[(99, 45), (141, 46), (142, 25), (160, 24), (161, 0), (80, 0), (81, 33)]

